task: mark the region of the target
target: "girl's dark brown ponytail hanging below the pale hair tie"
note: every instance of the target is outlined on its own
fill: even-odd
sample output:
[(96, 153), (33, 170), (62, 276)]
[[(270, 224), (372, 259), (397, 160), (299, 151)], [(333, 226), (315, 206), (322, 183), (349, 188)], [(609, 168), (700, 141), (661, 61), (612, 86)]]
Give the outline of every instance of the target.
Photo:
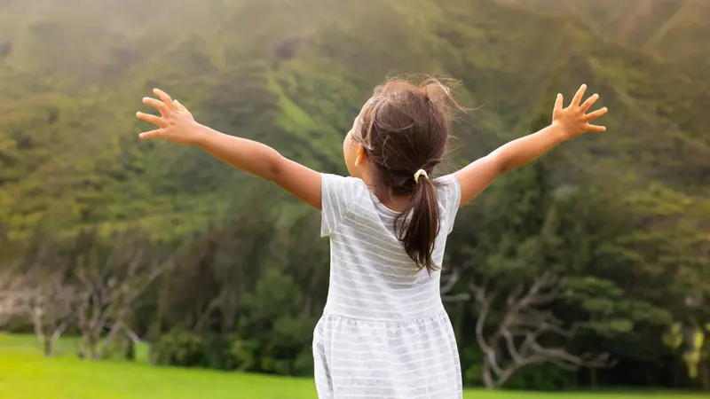
[(398, 239), (404, 244), (406, 254), (427, 273), (439, 267), (431, 259), (438, 232), (441, 227), (437, 199), (437, 186), (427, 173), (420, 169), (415, 175), (414, 193), (409, 206), (399, 217), (406, 217), (405, 223), (397, 223)]

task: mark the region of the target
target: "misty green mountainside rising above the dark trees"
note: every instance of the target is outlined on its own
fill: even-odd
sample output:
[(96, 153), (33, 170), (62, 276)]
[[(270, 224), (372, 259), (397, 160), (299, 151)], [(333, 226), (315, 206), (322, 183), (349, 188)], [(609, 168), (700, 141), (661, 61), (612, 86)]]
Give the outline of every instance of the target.
[[(0, 224), (22, 237), (37, 225), (59, 233), (141, 223), (171, 238), (241, 207), (256, 179), (194, 148), (138, 140), (149, 127), (134, 114), (153, 87), (216, 129), (344, 172), (341, 141), (372, 87), (422, 72), (461, 79), (461, 102), (480, 107), (458, 124), (448, 168), (547, 122), (556, 92), (570, 99), (585, 82), (611, 111), (608, 130), (556, 152), (560, 178), (702, 195), (710, 91), (682, 64), (710, 57), (685, 50), (706, 29), (697, 20), (705, 3), (659, 1), (672, 14), (664, 28), (639, 23), (633, 34), (615, 18), (645, 18), (640, 5), (608, 4), (619, 13), (595, 30), (587, 17), (512, 3), (2, 0)], [(582, 11), (594, 20), (599, 10)], [(659, 57), (662, 49), (676, 52)]]

